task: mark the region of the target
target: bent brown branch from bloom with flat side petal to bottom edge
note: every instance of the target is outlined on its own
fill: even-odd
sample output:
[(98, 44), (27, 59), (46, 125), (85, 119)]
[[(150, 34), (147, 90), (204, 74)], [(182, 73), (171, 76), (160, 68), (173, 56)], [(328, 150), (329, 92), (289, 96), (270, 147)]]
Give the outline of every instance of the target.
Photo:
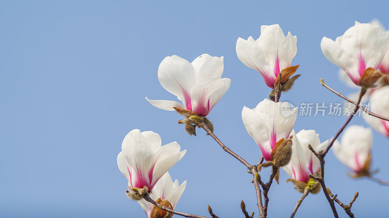
[(257, 206), (258, 206), (259, 214), (260, 215), (263, 214), (264, 206), (262, 204), (262, 191), (261, 191), (261, 188), (259, 187), (258, 179), (257, 179), (257, 177), (259, 177), (259, 174), (258, 174), (258, 171), (257, 171), (257, 166), (249, 164), (241, 156), (239, 156), (239, 155), (235, 154), (233, 151), (231, 151), (221, 140), (219, 140), (215, 136), (215, 134), (213, 134), (213, 132), (204, 123), (201, 124), (201, 128), (203, 128), (220, 145), (220, 147), (223, 148), (223, 150), (225, 152), (229, 153), (231, 156), (233, 156), (236, 159), (238, 159), (241, 163), (243, 163), (248, 168), (248, 170), (250, 170), (250, 173), (253, 176), (252, 182), (254, 183), (255, 192), (256, 192), (256, 195), (257, 195)]

